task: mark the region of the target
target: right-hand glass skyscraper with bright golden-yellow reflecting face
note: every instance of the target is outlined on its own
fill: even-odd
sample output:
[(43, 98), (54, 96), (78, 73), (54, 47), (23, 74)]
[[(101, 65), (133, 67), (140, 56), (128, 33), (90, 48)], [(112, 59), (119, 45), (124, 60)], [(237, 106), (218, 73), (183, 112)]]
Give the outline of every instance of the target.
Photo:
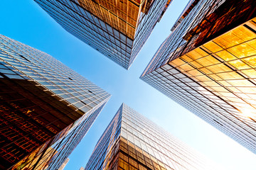
[(141, 79), (256, 154), (256, 1), (190, 1)]

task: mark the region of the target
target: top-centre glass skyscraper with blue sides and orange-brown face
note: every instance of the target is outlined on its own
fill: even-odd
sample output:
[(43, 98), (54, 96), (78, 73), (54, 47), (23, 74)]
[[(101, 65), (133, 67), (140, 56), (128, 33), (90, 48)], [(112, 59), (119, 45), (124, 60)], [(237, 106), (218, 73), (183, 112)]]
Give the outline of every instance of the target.
[(35, 0), (75, 37), (125, 69), (171, 0)]

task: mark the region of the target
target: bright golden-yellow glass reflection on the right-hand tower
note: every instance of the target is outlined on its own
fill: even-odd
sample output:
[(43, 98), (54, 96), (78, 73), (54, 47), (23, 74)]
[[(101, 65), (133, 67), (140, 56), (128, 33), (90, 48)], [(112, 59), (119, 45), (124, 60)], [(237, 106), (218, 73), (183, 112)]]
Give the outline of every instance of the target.
[[(241, 118), (256, 114), (256, 18), (206, 42), (169, 64), (241, 111)], [(255, 30), (255, 31), (252, 31)], [(245, 109), (247, 108), (247, 109)], [(244, 116), (246, 115), (246, 116)]]

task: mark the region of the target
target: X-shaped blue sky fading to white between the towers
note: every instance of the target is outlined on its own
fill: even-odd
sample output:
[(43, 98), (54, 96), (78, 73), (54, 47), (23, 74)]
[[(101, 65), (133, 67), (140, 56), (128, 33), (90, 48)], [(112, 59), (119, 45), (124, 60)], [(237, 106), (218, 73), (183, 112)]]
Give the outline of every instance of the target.
[(127, 71), (67, 33), (34, 1), (1, 0), (2, 35), (47, 52), (112, 94), (70, 155), (65, 170), (85, 166), (97, 140), (123, 102), (226, 169), (255, 170), (255, 154), (139, 79), (154, 52), (171, 33), (171, 26), (187, 2), (173, 1)]

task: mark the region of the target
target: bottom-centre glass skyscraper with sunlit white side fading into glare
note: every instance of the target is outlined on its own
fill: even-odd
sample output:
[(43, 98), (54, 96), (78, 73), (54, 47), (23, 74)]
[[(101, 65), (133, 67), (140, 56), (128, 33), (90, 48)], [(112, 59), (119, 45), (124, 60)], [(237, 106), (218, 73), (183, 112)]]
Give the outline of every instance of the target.
[(124, 103), (97, 142), (87, 170), (220, 169)]

